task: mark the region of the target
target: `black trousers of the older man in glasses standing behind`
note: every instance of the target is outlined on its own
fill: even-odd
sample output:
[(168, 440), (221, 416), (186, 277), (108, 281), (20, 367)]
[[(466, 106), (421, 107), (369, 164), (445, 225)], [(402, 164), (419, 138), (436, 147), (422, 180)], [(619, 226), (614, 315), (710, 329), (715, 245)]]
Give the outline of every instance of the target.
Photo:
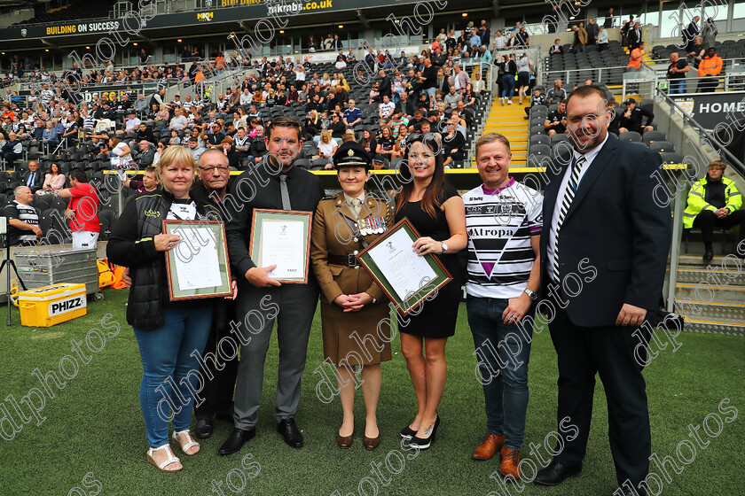
[[(194, 399), (194, 416), (198, 419), (211, 419), (215, 414), (233, 416), (233, 391), (238, 376), (238, 357), (230, 357), (233, 346), (223, 345), (217, 350), (217, 343), (223, 337), (232, 339), (235, 349), (240, 346), (239, 340), (230, 332), (230, 322), (235, 319), (235, 301), (216, 298), (212, 313), (212, 329), (209, 331), (207, 345), (200, 361), (200, 377), (204, 380), (202, 390)], [(217, 363), (213, 355), (217, 357)], [(207, 358), (208, 357), (208, 358)], [(212, 359), (212, 360), (210, 360)], [(230, 360), (228, 360), (230, 359)], [(222, 369), (221, 369), (222, 368)], [(199, 399), (203, 399), (199, 403)]]

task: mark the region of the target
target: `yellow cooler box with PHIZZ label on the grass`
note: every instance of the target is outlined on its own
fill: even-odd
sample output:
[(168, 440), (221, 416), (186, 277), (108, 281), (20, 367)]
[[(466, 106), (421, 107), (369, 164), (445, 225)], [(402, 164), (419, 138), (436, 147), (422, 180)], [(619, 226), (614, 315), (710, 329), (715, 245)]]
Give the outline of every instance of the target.
[(88, 313), (85, 284), (60, 283), (18, 293), (20, 324), (51, 327)]

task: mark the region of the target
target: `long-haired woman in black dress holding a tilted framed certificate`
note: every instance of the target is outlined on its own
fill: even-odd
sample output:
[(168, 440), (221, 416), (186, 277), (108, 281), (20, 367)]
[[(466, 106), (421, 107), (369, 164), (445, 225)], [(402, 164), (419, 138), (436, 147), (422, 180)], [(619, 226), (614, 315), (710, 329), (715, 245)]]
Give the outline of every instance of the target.
[(402, 181), (396, 196), (396, 221), (408, 218), (421, 236), (413, 249), (420, 255), (435, 254), (452, 276), (435, 298), (422, 302), (412, 314), (398, 315), (401, 349), (419, 408), (413, 422), (401, 430), (401, 437), (427, 449), (440, 423), (437, 407), (447, 375), (445, 344), (455, 334), (458, 316), (463, 277), (453, 253), (466, 247), (466, 208), (458, 191), (445, 182), (440, 135), (412, 133), (406, 142), (404, 174), (408, 172), (406, 179), (410, 180)]

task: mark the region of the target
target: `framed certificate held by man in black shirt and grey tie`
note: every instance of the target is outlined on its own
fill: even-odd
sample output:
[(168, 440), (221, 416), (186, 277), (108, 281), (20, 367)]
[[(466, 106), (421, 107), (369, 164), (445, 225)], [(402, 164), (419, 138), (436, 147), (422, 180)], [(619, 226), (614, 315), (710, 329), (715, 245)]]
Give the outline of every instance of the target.
[(269, 276), (279, 283), (308, 283), (311, 215), (255, 208), (248, 252), (256, 267), (277, 265)]

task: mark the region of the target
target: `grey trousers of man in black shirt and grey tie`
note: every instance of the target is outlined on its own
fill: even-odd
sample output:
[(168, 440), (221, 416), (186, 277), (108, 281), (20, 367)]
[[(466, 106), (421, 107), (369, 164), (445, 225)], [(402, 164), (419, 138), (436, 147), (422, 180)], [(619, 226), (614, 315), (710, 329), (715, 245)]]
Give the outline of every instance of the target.
[(318, 283), (310, 279), (308, 284), (256, 288), (243, 280), (239, 281), (238, 294), (236, 323), (241, 346), (233, 420), (236, 428), (249, 430), (258, 421), (264, 361), (275, 320), (279, 372), (274, 417), (279, 422), (294, 417), (297, 412), (310, 325), (318, 306)]

